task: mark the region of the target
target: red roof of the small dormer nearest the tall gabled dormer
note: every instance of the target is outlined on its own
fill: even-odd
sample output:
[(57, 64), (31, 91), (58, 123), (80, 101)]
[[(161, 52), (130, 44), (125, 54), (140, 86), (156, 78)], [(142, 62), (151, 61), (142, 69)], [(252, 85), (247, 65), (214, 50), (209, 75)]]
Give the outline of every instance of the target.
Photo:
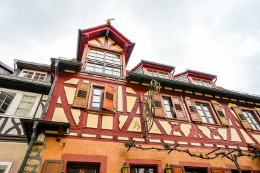
[(138, 69), (140, 66), (146, 66), (146, 67), (150, 67), (156, 70), (166, 70), (168, 72), (171, 72), (172, 70), (175, 69), (174, 66), (170, 66), (170, 65), (166, 65), (166, 64), (161, 64), (161, 63), (157, 63), (157, 62), (150, 62), (144, 59), (141, 59), (141, 62), (138, 63), (138, 65), (136, 65), (131, 72), (135, 71), (136, 69)]

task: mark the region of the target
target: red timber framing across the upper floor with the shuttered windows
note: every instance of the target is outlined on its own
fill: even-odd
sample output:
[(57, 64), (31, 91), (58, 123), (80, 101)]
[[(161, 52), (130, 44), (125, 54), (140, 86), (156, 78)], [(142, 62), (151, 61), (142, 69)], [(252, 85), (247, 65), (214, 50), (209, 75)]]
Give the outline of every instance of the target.
[[(89, 81), (90, 85), (97, 85), (97, 86), (103, 86), (105, 87), (105, 83), (107, 85), (112, 85), (115, 89), (115, 111), (97, 111), (97, 110), (91, 110), (91, 109), (81, 109), (81, 116), (79, 118), (79, 124), (75, 124), (75, 121), (73, 119), (73, 116), (70, 112), (70, 109), (77, 109), (73, 107), (73, 105), (68, 105), (66, 94), (64, 91), (64, 87), (70, 87), (70, 88), (77, 88), (77, 85), (64, 83), (65, 81), (68, 81), (71, 78), (79, 79), (79, 81), (83, 82), (84, 80)], [(122, 93), (125, 93), (122, 96), (122, 111), (117, 111), (117, 103), (118, 103), (118, 87), (122, 87)], [(132, 88), (136, 94), (126, 93), (126, 88)], [(97, 78), (93, 75), (81, 75), (81, 74), (70, 74), (66, 72), (60, 72), (59, 79), (57, 81), (57, 85), (55, 86), (54, 92), (53, 92), (53, 98), (51, 99), (51, 104), (49, 105), (49, 109), (47, 111), (47, 115), (45, 116), (45, 120), (51, 120), (53, 113), (55, 111), (55, 107), (62, 107), (64, 109), (64, 112), (66, 114), (66, 118), (68, 119), (68, 122), (71, 124), (70, 132), (77, 133), (77, 136), (66, 136), (71, 138), (77, 138), (77, 139), (89, 139), (89, 140), (100, 140), (100, 141), (114, 141), (114, 142), (124, 142), (118, 139), (118, 137), (135, 137), (140, 138), (140, 135), (142, 135), (144, 131), (144, 124), (141, 123), (140, 129), (141, 132), (131, 132), (128, 131), (129, 127), (132, 126), (133, 118), (140, 118), (142, 116), (142, 104), (139, 103), (140, 97), (142, 94), (144, 94), (148, 90), (148, 87), (146, 85), (136, 85), (129, 82), (121, 82), (118, 81), (118, 79), (115, 80), (109, 80), (105, 77)], [(90, 88), (90, 92), (92, 92), (92, 87)], [(182, 99), (184, 102), (185, 97), (190, 97), (194, 99), (195, 101), (200, 101), (202, 103), (208, 103), (210, 104), (210, 101), (212, 98), (207, 98), (205, 96), (198, 96), (195, 94), (189, 94), (184, 92), (172, 92), (172, 90), (161, 90), (161, 94), (166, 96), (179, 96), (179, 98)], [(90, 93), (91, 95), (91, 93)], [(57, 100), (60, 96), (62, 104), (57, 103)], [(127, 111), (127, 97), (135, 96), (136, 101), (133, 105), (133, 109), (131, 109), (130, 112)], [(172, 140), (172, 137), (174, 137), (174, 144), (178, 144), (177, 142), (187, 142), (188, 147), (191, 148), (209, 148), (208, 146), (204, 146), (204, 144), (213, 144), (214, 147), (216, 145), (225, 145), (225, 146), (237, 146), (237, 147), (244, 147), (247, 148), (248, 145), (246, 143), (246, 139), (244, 138), (244, 135), (242, 135), (242, 129), (246, 135), (250, 137), (252, 142), (255, 142), (255, 144), (258, 144), (257, 140), (251, 136), (251, 134), (258, 135), (258, 131), (246, 131), (243, 129), (241, 122), (235, 118), (233, 114), (231, 114), (231, 107), (228, 107), (229, 103), (231, 101), (225, 101), (225, 100), (216, 100), (222, 107), (224, 108), (224, 113), (226, 118), (231, 122), (229, 127), (226, 127), (222, 124), (220, 124), (218, 117), (214, 114), (213, 117), (216, 118), (216, 124), (209, 124), (209, 123), (194, 123), (190, 121), (190, 115), (187, 112), (187, 107), (185, 107), (185, 111), (187, 113), (187, 116), (189, 120), (179, 120), (177, 118), (171, 119), (171, 118), (155, 118), (155, 124), (158, 128), (158, 131), (161, 132), (161, 134), (155, 134), (155, 133), (149, 133), (151, 135), (151, 139), (159, 139), (160, 143), (153, 143), (154, 145), (161, 146), (163, 144), (164, 140), (170, 141)], [(88, 99), (88, 106), (90, 104), (90, 97)], [(244, 104), (237, 104), (237, 106), (244, 107), (244, 108), (250, 108), (250, 105)], [(139, 108), (138, 108), (139, 107)], [(136, 111), (140, 109), (140, 114), (136, 114)], [(213, 111), (213, 109), (211, 109)], [(98, 125), (96, 128), (88, 128), (86, 127), (88, 114), (98, 114)], [(122, 126), (122, 128), (119, 128), (119, 118), (121, 115), (128, 116), (125, 124)], [(112, 116), (113, 117), (113, 130), (108, 129), (102, 129), (102, 118), (103, 116)], [(167, 124), (169, 124), (171, 131), (167, 132), (165, 131), (164, 127), (161, 126), (160, 121), (164, 121)], [(172, 124), (174, 122), (175, 124)], [(182, 124), (190, 124), (190, 132), (189, 133), (183, 133), (183, 129), (181, 129)], [(238, 124), (238, 125), (237, 125)], [(205, 127), (207, 131), (209, 131), (209, 136), (205, 135), (203, 131), (198, 129), (199, 127)], [(233, 137), (231, 136), (231, 128), (235, 129), (237, 131), (237, 135), (239, 136), (239, 139), (241, 139), (241, 142), (235, 142), (233, 141)], [(224, 129), (226, 131), (226, 136), (222, 136), (219, 133), (219, 129)], [(88, 133), (88, 134), (95, 134), (95, 138), (89, 138), (89, 137), (81, 137), (82, 134)], [(179, 133), (180, 135), (172, 135), (173, 133)], [(109, 135), (113, 136), (113, 139), (103, 139), (101, 138), (101, 135)], [(218, 138), (218, 139), (217, 139)], [(194, 146), (192, 143), (199, 143), (200, 146)], [(247, 151), (244, 151), (247, 152)]]

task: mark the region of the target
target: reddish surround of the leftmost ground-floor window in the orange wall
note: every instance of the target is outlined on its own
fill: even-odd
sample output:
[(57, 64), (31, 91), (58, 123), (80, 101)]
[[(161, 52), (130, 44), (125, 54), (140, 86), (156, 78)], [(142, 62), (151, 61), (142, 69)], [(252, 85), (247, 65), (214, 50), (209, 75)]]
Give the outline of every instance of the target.
[(62, 155), (63, 171), (67, 173), (68, 162), (71, 163), (98, 163), (99, 172), (107, 173), (107, 156), (96, 156), (96, 155)]

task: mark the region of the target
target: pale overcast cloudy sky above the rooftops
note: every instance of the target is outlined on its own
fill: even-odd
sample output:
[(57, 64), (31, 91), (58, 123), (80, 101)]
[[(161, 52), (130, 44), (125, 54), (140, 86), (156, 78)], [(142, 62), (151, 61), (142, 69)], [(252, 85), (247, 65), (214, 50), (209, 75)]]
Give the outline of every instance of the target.
[(112, 25), (140, 59), (218, 75), (223, 88), (260, 95), (260, 1), (3, 1), (0, 61), (73, 58), (77, 29)]

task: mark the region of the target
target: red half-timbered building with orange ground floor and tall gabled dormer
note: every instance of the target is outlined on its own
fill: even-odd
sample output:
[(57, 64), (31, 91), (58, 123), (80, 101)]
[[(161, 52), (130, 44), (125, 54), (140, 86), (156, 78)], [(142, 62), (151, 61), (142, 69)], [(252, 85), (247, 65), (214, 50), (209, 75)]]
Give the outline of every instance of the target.
[(47, 114), (35, 127), (22, 120), (29, 144), (31, 134), (44, 136), (31, 144), (37, 157), (25, 158), (24, 170), (260, 170), (260, 96), (219, 88), (216, 75), (174, 75), (174, 66), (146, 60), (126, 70), (134, 46), (105, 24), (79, 29), (77, 59), (51, 59)]

